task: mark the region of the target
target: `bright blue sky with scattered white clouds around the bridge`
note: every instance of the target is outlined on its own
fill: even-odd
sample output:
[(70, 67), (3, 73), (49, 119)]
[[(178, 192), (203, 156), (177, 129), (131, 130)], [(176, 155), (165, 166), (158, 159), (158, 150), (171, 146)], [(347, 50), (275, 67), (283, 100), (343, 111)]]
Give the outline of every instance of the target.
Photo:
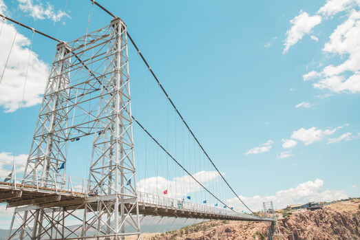
[[(25, 3), (0, 0), (0, 12), (19, 20)], [(312, 199), (359, 197), (358, 1), (100, 3), (125, 21), (204, 149), (248, 204), (256, 208), (269, 199), (284, 206)], [(92, 8), (90, 1), (70, 0), (65, 9), (65, 1), (29, 0), (22, 23), (72, 41), (86, 33), (89, 12), (89, 31), (111, 20), (96, 6)], [(3, 23), (0, 74), (15, 29)], [(31, 31), (19, 29), (0, 84), (3, 162), (12, 162), (15, 142), (19, 163), (30, 151), (41, 94), (54, 57), (55, 43), (35, 34), (17, 138), (31, 38)], [(134, 79), (134, 116), (155, 132), (153, 106), (158, 90), (130, 46), (129, 69)], [(145, 104), (146, 99), (154, 105)], [(166, 99), (160, 99), (164, 120), (169, 114)], [(173, 132), (160, 131), (163, 142), (166, 134), (173, 137)], [(142, 160), (141, 148), (147, 142), (141, 139), (145, 137), (140, 131), (137, 135)], [(86, 159), (73, 162), (71, 167), (77, 169), (81, 164), (86, 164)], [(140, 179), (149, 177), (141, 168), (143, 162), (138, 164)], [(192, 171), (197, 172), (195, 168)], [(67, 173), (76, 175), (76, 170), (68, 169)], [(80, 177), (86, 173), (84, 168)], [(232, 197), (226, 193), (229, 203), (235, 201)], [(7, 219), (1, 221), (8, 223)]]

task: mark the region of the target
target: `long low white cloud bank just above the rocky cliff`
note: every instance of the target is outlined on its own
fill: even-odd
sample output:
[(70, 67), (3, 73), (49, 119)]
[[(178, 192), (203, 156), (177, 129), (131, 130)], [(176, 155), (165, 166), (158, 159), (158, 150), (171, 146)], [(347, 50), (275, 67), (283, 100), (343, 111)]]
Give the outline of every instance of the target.
[[(275, 195), (268, 197), (243, 197), (241, 199), (251, 209), (257, 211), (262, 209), (262, 203), (264, 201), (273, 201), (275, 208), (285, 208), (289, 204), (306, 204), (309, 201), (332, 201), (338, 199), (346, 199), (344, 190), (324, 190), (324, 181), (316, 179), (314, 182), (308, 181), (297, 185), (296, 188), (288, 188), (286, 190), (279, 190)], [(236, 206), (239, 204), (239, 199), (234, 197), (228, 199), (227, 202), (231, 205)]]

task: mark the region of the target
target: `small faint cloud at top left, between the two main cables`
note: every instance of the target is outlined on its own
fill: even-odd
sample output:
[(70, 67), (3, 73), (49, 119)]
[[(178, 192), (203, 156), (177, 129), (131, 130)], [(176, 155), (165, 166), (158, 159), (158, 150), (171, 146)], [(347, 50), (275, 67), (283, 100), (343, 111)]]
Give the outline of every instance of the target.
[[(43, 6), (42, 3), (34, 3), (32, 0), (18, 0), (19, 8), (23, 10), (26, 5), (25, 12), (28, 12), (34, 19), (50, 19), (54, 22), (60, 21), (62, 17), (69, 17), (65, 12), (61, 10), (54, 10), (54, 6), (47, 2), (47, 6)], [(26, 3), (28, 2), (28, 3)]]

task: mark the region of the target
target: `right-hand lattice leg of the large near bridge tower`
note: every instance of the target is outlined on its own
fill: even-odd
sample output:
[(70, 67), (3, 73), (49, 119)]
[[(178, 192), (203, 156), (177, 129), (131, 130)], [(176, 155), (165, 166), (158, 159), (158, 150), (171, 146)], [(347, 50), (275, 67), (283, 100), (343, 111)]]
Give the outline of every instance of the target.
[[(85, 204), (84, 223), (97, 229), (96, 237), (103, 231), (115, 239), (125, 239), (125, 225), (140, 238), (138, 197), (135, 183), (134, 141), (130, 106), (129, 73), (127, 68), (126, 25), (121, 19), (112, 21), (113, 37), (108, 44), (108, 59), (112, 72), (104, 81), (98, 106), (96, 132), (89, 174), (89, 193), (99, 195), (96, 204)], [(109, 94), (111, 93), (111, 94)], [(135, 213), (131, 215), (130, 213)], [(90, 217), (89, 217), (90, 216)], [(136, 216), (136, 217), (134, 217)], [(83, 228), (83, 235), (87, 229)], [(110, 238), (109, 238), (110, 239)], [(111, 237), (111, 239), (113, 239)]]

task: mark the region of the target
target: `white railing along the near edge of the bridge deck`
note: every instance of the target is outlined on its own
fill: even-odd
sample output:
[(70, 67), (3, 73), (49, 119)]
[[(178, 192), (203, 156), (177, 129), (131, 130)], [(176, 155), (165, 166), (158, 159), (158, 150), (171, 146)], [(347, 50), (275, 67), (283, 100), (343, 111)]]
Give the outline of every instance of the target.
[[(26, 180), (33, 177), (33, 184), (24, 184), (25, 167), (17, 164), (9, 164), (8, 162), (0, 162), (0, 185), (10, 189), (31, 189), (36, 191), (67, 194), (72, 196), (88, 197), (88, 180), (79, 177), (58, 175), (47, 175), (46, 181), (36, 171), (33, 175), (26, 175)], [(29, 177), (30, 176), (30, 177)], [(195, 204), (183, 199), (176, 199), (166, 196), (154, 195), (151, 193), (138, 192), (138, 201), (145, 206), (154, 206), (173, 210), (185, 210), (203, 214), (227, 215), (241, 217), (245, 215), (234, 212), (229, 208), (220, 208), (215, 206), (207, 206), (204, 204)], [(254, 219), (256, 216), (251, 216)]]

